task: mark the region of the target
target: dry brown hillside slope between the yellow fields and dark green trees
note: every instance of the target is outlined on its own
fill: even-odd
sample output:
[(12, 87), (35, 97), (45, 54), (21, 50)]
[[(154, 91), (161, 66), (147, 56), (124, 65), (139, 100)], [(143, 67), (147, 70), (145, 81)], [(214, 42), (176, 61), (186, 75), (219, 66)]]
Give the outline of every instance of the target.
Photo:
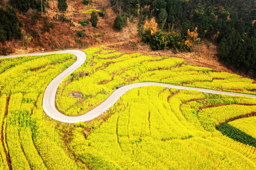
[[(68, 8), (64, 13), (65, 17), (72, 20), (71, 1), (67, 0)], [(18, 13), (20, 20), (19, 26), (28, 34), (33, 36), (29, 46), (25, 48), (21, 45), (20, 40), (7, 42), (4, 47), (6, 53), (31, 53), (41, 51), (55, 51), (64, 49), (85, 49), (90, 46), (105, 45), (119, 49), (125, 52), (142, 52), (148, 55), (175, 56), (189, 59), (192, 63), (201, 66), (217, 66), (225, 71), (233, 72), (256, 79), (252, 73), (236, 70), (235, 68), (223, 67), (216, 57), (217, 47), (210, 42), (201, 41), (200, 44), (194, 45), (192, 52), (174, 53), (172, 50), (152, 51), (149, 46), (141, 42), (137, 37), (137, 18), (132, 22), (128, 20), (126, 26), (119, 32), (113, 28), (113, 23), (117, 14), (110, 5), (110, 0), (91, 0), (88, 5), (82, 4), (82, 0), (73, 0), (73, 24), (61, 22), (57, 8), (57, 1), (49, 1), (47, 14), (44, 13), (36, 21), (33, 21), (34, 11), (30, 9), (27, 13)], [(91, 26), (81, 26), (78, 21), (87, 20), (91, 14), (85, 14), (84, 11), (95, 8), (101, 10), (105, 7), (105, 17), (98, 16), (99, 21), (97, 28)], [(54, 25), (49, 31), (44, 31), (44, 18), (48, 18), (48, 23)], [(77, 31), (83, 31), (82, 37), (77, 36)]]

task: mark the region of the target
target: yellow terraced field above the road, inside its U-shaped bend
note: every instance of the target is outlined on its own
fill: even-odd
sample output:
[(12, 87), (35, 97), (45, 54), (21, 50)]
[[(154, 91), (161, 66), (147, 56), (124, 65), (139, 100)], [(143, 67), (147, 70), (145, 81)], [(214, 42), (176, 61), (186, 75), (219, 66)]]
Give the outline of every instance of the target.
[[(253, 80), (214, 68), (192, 66), (184, 59), (121, 54), (103, 46), (86, 49), (81, 68), (59, 86), (56, 106), (65, 115), (81, 115), (103, 102), (120, 85), (161, 82), (207, 89), (256, 94)], [(79, 91), (82, 100), (69, 96)]]

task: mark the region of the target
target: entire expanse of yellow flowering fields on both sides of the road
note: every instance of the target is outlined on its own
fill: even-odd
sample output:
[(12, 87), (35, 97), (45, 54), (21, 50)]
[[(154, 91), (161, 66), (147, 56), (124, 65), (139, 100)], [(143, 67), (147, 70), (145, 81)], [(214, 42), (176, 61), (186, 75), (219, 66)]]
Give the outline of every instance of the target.
[[(138, 82), (256, 94), (254, 80), (184, 59), (86, 49), (59, 85), (56, 107), (76, 116)], [(71, 54), (0, 59), (0, 170), (254, 170), (256, 99), (163, 87), (125, 93), (99, 118), (65, 124), (46, 116), (46, 86)], [(82, 98), (69, 96), (81, 92)]]

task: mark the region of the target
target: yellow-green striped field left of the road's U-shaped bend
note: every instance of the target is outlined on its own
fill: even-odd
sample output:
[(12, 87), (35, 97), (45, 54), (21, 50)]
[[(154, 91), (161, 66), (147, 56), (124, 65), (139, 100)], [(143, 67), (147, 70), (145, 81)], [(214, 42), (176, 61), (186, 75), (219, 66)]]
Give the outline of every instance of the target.
[[(71, 54), (52, 54), (0, 60), (6, 63), (1, 65), (5, 71), (0, 73), (0, 122), (3, 124), (0, 167), (3, 169), (9, 169), (8, 156), (13, 170), (79, 169), (55, 130), (57, 122), (46, 117), (42, 109), (46, 86), (74, 59)], [(11, 67), (9, 61), (13, 63)], [(7, 95), (10, 98), (5, 116)]]

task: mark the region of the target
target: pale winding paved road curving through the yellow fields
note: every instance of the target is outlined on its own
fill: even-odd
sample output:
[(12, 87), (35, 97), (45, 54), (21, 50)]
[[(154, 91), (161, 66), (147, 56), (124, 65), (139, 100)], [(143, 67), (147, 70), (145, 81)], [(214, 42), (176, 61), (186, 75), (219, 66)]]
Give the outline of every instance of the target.
[(21, 56), (32, 56), (32, 55), (46, 55), (52, 53), (71, 53), (77, 57), (77, 60), (67, 69), (64, 70), (59, 76), (56, 76), (46, 87), (46, 91), (43, 97), (43, 109), (45, 113), (51, 117), (52, 119), (65, 122), (65, 123), (77, 123), (80, 121), (89, 121), (94, 118), (97, 118), (104, 111), (108, 110), (111, 106), (114, 105), (118, 99), (126, 93), (128, 90), (136, 88), (136, 87), (143, 87), (143, 86), (163, 86), (175, 89), (185, 89), (185, 90), (196, 90), (203, 93), (214, 93), (214, 94), (226, 94), (226, 95), (238, 95), (238, 96), (246, 96), (256, 98), (256, 95), (250, 94), (242, 94), (242, 93), (230, 93), (230, 92), (222, 92), (216, 90), (208, 90), (208, 89), (201, 89), (201, 88), (193, 88), (193, 87), (185, 87), (179, 85), (169, 85), (169, 84), (162, 84), (162, 83), (135, 83), (130, 85), (125, 85), (120, 87), (119, 89), (115, 90), (110, 96), (102, 102), (100, 105), (92, 109), (91, 111), (85, 113), (81, 116), (65, 116), (61, 112), (59, 112), (55, 107), (55, 97), (56, 91), (59, 84), (64, 80), (66, 76), (71, 74), (74, 70), (79, 68), (86, 59), (86, 54), (82, 51), (78, 50), (66, 50), (66, 51), (54, 51), (54, 52), (44, 52), (44, 53), (31, 53), (31, 54), (21, 54), (21, 55), (11, 55), (11, 56), (1, 56), (0, 58), (11, 58), (11, 57), (21, 57)]

